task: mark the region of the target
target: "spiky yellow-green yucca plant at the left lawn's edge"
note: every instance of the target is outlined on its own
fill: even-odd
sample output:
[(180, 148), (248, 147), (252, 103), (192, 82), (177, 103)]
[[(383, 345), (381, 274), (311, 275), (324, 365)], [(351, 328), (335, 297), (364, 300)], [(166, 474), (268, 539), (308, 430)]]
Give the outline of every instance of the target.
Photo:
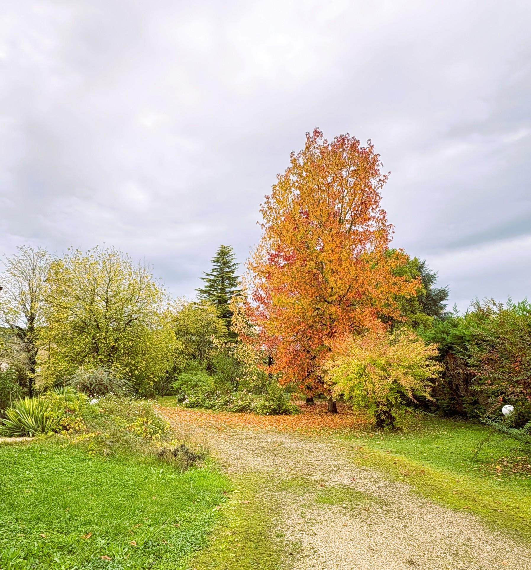
[(59, 427), (64, 410), (39, 398), (24, 398), (4, 412), (0, 419), (0, 435), (20, 437), (48, 433)]

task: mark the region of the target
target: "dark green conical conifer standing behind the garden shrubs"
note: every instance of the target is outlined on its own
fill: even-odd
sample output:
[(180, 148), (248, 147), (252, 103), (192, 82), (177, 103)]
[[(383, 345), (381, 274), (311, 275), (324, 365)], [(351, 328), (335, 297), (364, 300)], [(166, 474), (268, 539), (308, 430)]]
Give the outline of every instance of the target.
[(200, 299), (212, 303), (216, 308), (220, 319), (230, 330), (232, 324), (232, 311), (230, 311), (230, 299), (240, 293), (237, 289), (238, 276), (236, 270), (239, 263), (234, 262), (234, 251), (231, 246), (219, 246), (216, 255), (211, 259), (212, 269), (208, 273), (203, 271), (204, 287), (196, 289)]

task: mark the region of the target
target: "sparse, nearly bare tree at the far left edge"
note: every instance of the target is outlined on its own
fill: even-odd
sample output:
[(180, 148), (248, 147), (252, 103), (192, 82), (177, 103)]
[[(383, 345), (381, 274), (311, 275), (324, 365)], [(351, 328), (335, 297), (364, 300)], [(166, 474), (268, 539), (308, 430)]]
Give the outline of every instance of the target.
[(0, 323), (9, 329), (7, 342), (15, 367), (23, 370), (33, 396), (37, 355), (44, 326), (44, 290), (50, 255), (42, 247), (18, 247), (6, 257), (0, 278)]

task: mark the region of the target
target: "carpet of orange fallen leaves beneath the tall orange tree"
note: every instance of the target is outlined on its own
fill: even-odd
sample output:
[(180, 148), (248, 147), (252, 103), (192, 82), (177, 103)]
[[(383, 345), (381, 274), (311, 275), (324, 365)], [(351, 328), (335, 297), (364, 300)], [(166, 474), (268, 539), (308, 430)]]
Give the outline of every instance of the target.
[(303, 434), (347, 434), (367, 427), (367, 419), (340, 402), (337, 403), (337, 414), (326, 411), (326, 402), (317, 402), (311, 406), (298, 402), (298, 405), (301, 413), (293, 416), (257, 416), (253, 413), (213, 412), (179, 406), (165, 406), (159, 410), (168, 421), (176, 425), (212, 427), (219, 431), (226, 427), (248, 427), (256, 430), (298, 431)]

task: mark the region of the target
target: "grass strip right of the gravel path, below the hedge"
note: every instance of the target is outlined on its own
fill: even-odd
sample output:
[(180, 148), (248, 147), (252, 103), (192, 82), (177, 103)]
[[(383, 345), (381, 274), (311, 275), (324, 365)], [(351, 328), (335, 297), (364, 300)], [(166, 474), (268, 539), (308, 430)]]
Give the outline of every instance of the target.
[(357, 463), (531, 540), (529, 446), (476, 422), (424, 414), (402, 431), (342, 439), (351, 444)]

